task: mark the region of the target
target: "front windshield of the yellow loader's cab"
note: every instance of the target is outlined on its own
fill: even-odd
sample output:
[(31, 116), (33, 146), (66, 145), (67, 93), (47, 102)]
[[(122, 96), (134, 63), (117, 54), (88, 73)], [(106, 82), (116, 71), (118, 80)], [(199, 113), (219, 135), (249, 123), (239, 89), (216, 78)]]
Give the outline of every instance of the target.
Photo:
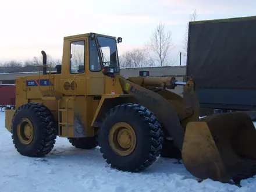
[(114, 72), (119, 72), (118, 53), (116, 50), (116, 40), (109, 37), (97, 37), (99, 54), (101, 55), (103, 66), (109, 66)]

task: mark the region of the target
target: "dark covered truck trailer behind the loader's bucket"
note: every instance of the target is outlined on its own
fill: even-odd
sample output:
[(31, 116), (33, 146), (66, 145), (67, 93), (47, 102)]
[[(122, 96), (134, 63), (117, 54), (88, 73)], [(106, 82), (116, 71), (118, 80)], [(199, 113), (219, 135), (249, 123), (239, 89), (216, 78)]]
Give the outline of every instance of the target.
[(205, 109), (256, 111), (256, 16), (189, 23), (187, 76)]

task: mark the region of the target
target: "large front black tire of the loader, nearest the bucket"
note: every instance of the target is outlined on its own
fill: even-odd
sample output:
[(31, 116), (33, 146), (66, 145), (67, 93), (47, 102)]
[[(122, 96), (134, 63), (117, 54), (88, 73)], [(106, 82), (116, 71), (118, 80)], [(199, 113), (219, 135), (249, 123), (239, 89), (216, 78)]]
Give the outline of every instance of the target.
[[(117, 151), (111, 145), (115, 145), (115, 134), (111, 131), (116, 123), (123, 123), (127, 130), (133, 132), (135, 143), (133, 150)], [(116, 128), (118, 130), (118, 128)], [(115, 133), (115, 132), (114, 132)], [(120, 132), (119, 132), (120, 133)], [(117, 134), (117, 133), (116, 133)], [(113, 136), (113, 139), (109, 136)], [(135, 141), (136, 140), (136, 141)], [(127, 141), (127, 143), (129, 143)], [(125, 141), (123, 141), (125, 142)], [(159, 157), (163, 142), (162, 127), (155, 115), (144, 106), (138, 104), (123, 104), (112, 108), (105, 114), (102, 126), (98, 131), (98, 143), (101, 147), (102, 157), (111, 164), (112, 168), (128, 172), (138, 172), (148, 168)], [(120, 147), (119, 147), (120, 149)], [(122, 148), (121, 148), (122, 149)]]

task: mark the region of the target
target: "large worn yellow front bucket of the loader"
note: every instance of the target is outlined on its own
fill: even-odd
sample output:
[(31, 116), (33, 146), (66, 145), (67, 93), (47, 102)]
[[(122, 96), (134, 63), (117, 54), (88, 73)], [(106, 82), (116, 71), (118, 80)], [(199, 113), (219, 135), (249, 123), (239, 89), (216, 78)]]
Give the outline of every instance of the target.
[(246, 113), (222, 113), (186, 126), (182, 158), (199, 179), (240, 183), (256, 175), (256, 130)]

